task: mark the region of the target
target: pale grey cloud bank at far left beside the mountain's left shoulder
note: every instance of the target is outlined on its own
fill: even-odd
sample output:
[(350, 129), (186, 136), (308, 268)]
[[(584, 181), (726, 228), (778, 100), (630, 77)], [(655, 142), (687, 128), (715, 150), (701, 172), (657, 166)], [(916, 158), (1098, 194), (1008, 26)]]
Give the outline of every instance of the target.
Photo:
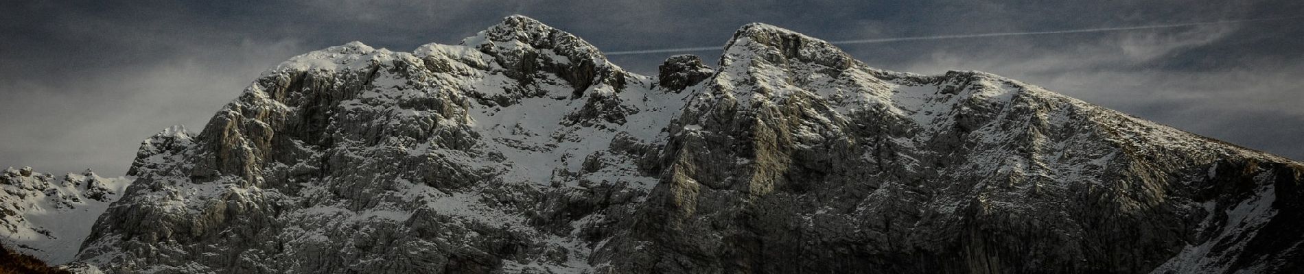
[(197, 132), (254, 77), (300, 47), (286, 42), (213, 49), (233, 55), (168, 57), (67, 82), (7, 82), (0, 86), (0, 117), (7, 117), (0, 165), (124, 174), (141, 140), (171, 125)]

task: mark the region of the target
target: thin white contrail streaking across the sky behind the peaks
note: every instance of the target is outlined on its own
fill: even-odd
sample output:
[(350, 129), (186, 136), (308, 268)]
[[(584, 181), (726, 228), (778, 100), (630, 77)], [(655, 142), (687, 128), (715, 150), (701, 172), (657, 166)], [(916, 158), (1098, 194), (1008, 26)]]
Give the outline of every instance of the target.
[[(1244, 23), (1244, 22), (1297, 19), (1297, 18), (1304, 18), (1304, 16), (1278, 17), (1278, 18), (1260, 18), (1260, 19), (1228, 19), (1228, 21), (1193, 22), (1193, 23), (1166, 23), (1166, 25), (1131, 26), (1131, 27), (1097, 27), (1097, 29), (1080, 29), (1080, 30), (1020, 31), (1020, 32), (990, 32), (990, 34), (953, 34), (953, 35), (910, 36), (910, 38), (878, 38), (878, 39), (858, 39), (858, 40), (829, 42), (829, 44), (874, 44), (874, 43), (911, 42), (911, 40), (940, 40), (940, 39), (962, 39), (962, 38), (996, 38), (996, 36), (1018, 36), (1018, 35), (1104, 32), (1104, 31), (1170, 29), (1170, 27), (1188, 27), (1188, 26), (1223, 25), (1223, 23)], [(699, 51), (720, 51), (720, 49), (722, 49), (722, 48), (721, 47), (662, 48), (662, 49), (640, 49), (640, 51), (606, 52), (605, 55), (609, 55), (609, 56), (614, 56), (614, 55), (648, 55), (648, 53), (699, 52)]]

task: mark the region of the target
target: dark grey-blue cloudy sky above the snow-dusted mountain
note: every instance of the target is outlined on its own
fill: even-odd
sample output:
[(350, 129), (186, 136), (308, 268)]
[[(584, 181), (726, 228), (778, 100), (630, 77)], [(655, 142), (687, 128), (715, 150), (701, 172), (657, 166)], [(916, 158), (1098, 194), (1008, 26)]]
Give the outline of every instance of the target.
[[(1288, 18), (844, 45), (882, 69), (982, 70), (1304, 160), (1304, 1), (0, 1), (0, 168), (124, 174), (261, 71), (352, 40), (456, 44), (524, 14), (604, 51), (724, 45), (765, 22), (825, 40)], [(716, 60), (719, 51), (691, 52)], [(652, 74), (675, 53), (612, 56)]]

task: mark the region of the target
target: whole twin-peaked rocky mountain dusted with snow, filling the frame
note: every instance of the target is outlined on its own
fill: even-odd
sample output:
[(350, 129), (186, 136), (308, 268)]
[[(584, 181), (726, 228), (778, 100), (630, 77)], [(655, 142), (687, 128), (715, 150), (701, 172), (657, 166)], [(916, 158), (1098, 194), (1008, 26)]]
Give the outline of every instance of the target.
[[(107, 273), (1291, 273), (1304, 166), (978, 71), (747, 25), (657, 78), (514, 16), (349, 43), (166, 131)], [(8, 188), (7, 188), (8, 190)]]

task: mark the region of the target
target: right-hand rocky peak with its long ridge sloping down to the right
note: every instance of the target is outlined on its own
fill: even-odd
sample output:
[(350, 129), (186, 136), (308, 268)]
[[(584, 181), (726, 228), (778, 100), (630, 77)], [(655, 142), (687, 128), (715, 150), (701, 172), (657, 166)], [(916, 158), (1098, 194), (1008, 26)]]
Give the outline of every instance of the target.
[[(1299, 222), (1266, 204), (1296, 162), (991, 74), (875, 70), (748, 25), (702, 90), (606, 245), (621, 273), (1145, 273)], [(1200, 260), (1296, 269), (1283, 229)]]

